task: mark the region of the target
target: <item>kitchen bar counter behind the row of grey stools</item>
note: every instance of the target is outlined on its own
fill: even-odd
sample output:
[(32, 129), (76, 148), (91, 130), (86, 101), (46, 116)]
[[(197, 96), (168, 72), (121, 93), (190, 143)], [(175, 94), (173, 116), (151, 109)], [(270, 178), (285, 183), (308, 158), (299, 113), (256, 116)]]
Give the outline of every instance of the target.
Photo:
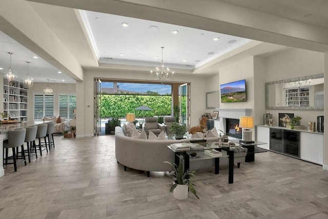
[(43, 124), (43, 123), (49, 123), (51, 121), (28, 121), (28, 122), (22, 122), (22, 123), (5, 123), (5, 124), (0, 124), (0, 177), (5, 175), (5, 170), (4, 170), (4, 154), (3, 154), (3, 148), (4, 148), (4, 140), (8, 138), (8, 131), (15, 130), (15, 129), (21, 129), (21, 128), (26, 128), (30, 126), (35, 126), (38, 124)]

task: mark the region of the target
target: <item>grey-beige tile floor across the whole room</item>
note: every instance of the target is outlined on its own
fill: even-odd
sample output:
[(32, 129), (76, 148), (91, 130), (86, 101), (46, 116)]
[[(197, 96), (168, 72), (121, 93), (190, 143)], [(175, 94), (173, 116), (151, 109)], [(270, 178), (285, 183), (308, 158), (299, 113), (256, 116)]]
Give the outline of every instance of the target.
[[(266, 152), (235, 168), (194, 177), (200, 197), (169, 192), (172, 174), (124, 168), (114, 135), (68, 139), (27, 166), (5, 167), (0, 218), (328, 218), (328, 172), (322, 166)], [(142, 162), (142, 161), (140, 161)]]

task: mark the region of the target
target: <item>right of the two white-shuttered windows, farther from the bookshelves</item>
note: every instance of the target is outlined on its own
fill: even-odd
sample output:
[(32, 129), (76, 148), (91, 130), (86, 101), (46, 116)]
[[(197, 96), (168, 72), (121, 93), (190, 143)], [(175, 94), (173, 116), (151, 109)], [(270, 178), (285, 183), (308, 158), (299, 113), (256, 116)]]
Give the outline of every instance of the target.
[(76, 95), (59, 95), (60, 117), (74, 118), (73, 110), (76, 109)]

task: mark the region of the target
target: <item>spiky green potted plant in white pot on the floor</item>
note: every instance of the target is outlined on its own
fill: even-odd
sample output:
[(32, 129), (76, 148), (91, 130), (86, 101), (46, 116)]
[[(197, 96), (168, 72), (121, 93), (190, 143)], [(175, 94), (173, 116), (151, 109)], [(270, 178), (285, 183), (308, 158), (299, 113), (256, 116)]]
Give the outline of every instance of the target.
[(177, 200), (185, 200), (186, 198), (188, 198), (188, 188), (189, 188), (189, 190), (199, 199), (196, 193), (196, 189), (194, 187), (195, 185), (190, 182), (190, 178), (195, 175), (196, 171), (195, 170), (193, 171), (187, 170), (186, 172), (183, 171), (183, 165), (181, 164), (181, 161), (182, 159), (180, 158), (179, 167), (176, 164), (172, 164), (168, 161), (163, 162), (163, 163), (170, 164), (175, 171), (173, 173), (173, 175), (175, 176), (173, 178), (174, 183), (170, 188), (170, 192), (173, 192), (173, 196)]

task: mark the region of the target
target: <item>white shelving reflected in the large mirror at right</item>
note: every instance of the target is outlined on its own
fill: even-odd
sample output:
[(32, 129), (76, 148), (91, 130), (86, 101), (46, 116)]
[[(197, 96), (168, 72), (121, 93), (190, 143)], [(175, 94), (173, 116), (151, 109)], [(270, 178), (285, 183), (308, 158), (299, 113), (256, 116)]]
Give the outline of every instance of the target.
[(310, 106), (309, 87), (286, 89), (286, 106)]

